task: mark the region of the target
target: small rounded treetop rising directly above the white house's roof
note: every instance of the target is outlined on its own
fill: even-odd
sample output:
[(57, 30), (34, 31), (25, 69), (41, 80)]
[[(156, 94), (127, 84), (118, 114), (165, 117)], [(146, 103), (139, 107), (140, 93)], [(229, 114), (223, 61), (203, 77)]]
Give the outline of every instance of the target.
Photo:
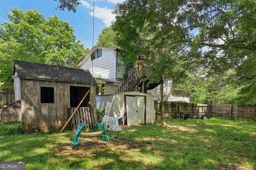
[(101, 33), (98, 35), (98, 42), (96, 47), (118, 47), (116, 45), (116, 33), (110, 28), (105, 27), (101, 30)]

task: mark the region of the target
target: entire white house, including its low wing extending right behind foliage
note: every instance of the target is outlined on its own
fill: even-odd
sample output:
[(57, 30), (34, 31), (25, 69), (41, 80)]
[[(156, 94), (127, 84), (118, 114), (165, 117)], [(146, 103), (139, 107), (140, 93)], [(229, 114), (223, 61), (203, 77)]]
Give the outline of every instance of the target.
[[(98, 81), (100, 87), (96, 94), (112, 94), (116, 92), (124, 91), (139, 91), (143, 86), (142, 79), (136, 78), (137, 82), (132, 87), (129, 80), (135, 79), (136, 68), (128, 68), (122, 64), (120, 60), (121, 52), (118, 48), (106, 48), (106, 47), (93, 47), (90, 52), (84, 57), (84, 59), (78, 64), (82, 69), (90, 70), (93, 77)], [(138, 69), (138, 68), (137, 68)], [(124, 75), (128, 75), (124, 80)], [(137, 86), (136, 86), (137, 85)], [(146, 89), (145, 92), (154, 96), (154, 100), (159, 100), (161, 97), (160, 86), (155, 84), (153, 88)], [(120, 90), (125, 88), (124, 91)], [(119, 88), (119, 90), (118, 90)], [(144, 88), (144, 86), (143, 86)], [(176, 94), (175, 96), (173, 94)], [(178, 95), (178, 96), (177, 96)], [(172, 82), (164, 82), (164, 101), (190, 101), (190, 92), (172, 88)]]

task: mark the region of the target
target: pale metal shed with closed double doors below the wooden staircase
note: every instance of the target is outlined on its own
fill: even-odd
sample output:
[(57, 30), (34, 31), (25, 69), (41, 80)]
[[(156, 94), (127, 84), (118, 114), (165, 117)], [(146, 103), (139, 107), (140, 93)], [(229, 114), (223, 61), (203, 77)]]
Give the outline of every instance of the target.
[(121, 92), (96, 96), (96, 107), (106, 115), (123, 119), (123, 125), (154, 123), (154, 96), (142, 92)]

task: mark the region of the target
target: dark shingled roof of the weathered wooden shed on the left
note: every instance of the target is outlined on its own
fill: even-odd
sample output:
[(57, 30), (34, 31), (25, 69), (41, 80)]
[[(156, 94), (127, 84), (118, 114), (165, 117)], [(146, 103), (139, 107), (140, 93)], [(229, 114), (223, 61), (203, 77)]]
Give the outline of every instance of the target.
[(96, 84), (94, 78), (92, 79), (92, 74), (90, 71), (80, 68), (70, 68), (15, 60), (14, 72), (17, 72), (19, 78), (24, 79)]

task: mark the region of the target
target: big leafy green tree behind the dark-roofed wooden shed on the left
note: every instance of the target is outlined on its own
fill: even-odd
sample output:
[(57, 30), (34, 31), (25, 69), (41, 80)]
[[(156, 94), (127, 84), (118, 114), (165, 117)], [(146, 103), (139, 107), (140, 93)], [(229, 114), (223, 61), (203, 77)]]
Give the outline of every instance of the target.
[(23, 12), (14, 8), (7, 14), (9, 22), (0, 27), (0, 82), (12, 87), (13, 61), (76, 67), (88, 53), (74, 29), (58, 16), (49, 17), (37, 10)]

